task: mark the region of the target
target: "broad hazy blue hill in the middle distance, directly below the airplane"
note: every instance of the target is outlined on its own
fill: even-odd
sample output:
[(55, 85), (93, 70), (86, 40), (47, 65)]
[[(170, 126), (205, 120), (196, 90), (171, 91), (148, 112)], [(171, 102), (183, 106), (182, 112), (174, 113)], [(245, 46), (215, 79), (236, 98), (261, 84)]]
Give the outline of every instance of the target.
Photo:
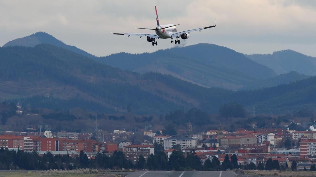
[(200, 43), (144, 54), (112, 54), (96, 61), (140, 73), (159, 72), (206, 87), (240, 89), (256, 80), (276, 76), (232, 49)]

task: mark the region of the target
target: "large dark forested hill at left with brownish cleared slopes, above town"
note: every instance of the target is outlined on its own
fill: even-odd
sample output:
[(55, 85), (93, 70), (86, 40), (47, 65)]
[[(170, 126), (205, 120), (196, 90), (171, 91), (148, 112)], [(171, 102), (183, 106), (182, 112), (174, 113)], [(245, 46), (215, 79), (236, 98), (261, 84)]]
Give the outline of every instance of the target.
[(0, 48), (0, 80), (2, 101), (24, 98), (50, 109), (159, 114), (200, 107), (217, 92), (171, 76), (121, 71), (49, 44)]

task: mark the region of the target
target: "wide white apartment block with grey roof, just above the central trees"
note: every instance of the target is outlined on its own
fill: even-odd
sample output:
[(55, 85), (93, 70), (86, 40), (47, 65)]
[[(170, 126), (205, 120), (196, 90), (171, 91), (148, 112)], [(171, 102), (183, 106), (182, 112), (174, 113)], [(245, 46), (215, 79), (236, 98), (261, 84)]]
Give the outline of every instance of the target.
[(172, 149), (173, 145), (180, 145), (182, 148), (195, 148), (196, 147), (196, 140), (189, 137), (170, 137), (164, 140), (165, 142), (165, 150)]

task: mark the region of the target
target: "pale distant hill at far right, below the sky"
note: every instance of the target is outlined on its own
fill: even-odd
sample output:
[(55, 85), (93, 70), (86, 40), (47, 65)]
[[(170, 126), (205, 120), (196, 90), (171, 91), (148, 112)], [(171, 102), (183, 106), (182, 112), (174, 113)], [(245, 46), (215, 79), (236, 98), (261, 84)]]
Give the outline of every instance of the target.
[(316, 75), (316, 58), (293, 50), (273, 52), (273, 54), (252, 54), (248, 58), (273, 69), (277, 74), (296, 71), (301, 74)]

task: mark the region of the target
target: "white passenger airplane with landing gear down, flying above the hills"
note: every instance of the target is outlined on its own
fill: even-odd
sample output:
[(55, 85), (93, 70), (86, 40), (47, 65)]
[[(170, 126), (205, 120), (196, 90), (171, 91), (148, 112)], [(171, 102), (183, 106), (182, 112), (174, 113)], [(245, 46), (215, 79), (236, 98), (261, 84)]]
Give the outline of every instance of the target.
[(146, 30), (155, 30), (156, 34), (132, 34), (132, 33), (112, 33), (112, 34), (116, 34), (116, 35), (128, 35), (128, 37), (130, 36), (140, 36), (140, 38), (142, 36), (147, 36), (147, 41), (148, 42), (152, 42), (152, 45), (157, 45), (157, 41), (156, 39), (168, 39), (171, 38), (171, 43), (173, 43), (173, 37), (176, 38), (176, 40), (174, 40), (175, 44), (179, 44), (181, 39), (188, 39), (189, 38), (189, 34), (191, 31), (201, 31), (207, 28), (213, 28), (216, 26), (216, 20), (215, 20), (215, 25), (212, 26), (207, 26), (207, 27), (203, 27), (203, 28), (197, 28), (197, 29), (193, 29), (193, 30), (187, 30), (187, 31), (181, 31), (181, 32), (177, 32), (177, 28), (176, 26), (178, 25), (173, 25), (173, 24), (167, 24), (167, 25), (160, 25), (159, 23), (159, 19), (158, 19), (158, 13), (157, 13), (157, 7), (155, 6), (155, 10), (156, 10), (156, 21), (157, 21), (157, 27), (155, 29), (153, 28), (137, 28), (137, 29), (146, 29)]

